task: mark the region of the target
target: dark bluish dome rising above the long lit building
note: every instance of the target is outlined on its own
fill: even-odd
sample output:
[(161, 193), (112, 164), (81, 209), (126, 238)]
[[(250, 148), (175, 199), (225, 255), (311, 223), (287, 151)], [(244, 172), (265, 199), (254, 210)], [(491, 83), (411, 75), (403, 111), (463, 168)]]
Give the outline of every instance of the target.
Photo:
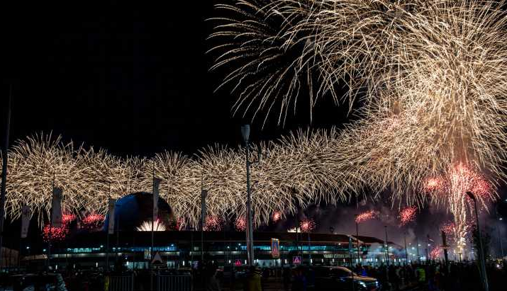
[[(132, 193), (116, 200), (115, 204), (115, 230), (133, 232), (145, 222), (152, 220), (153, 195), (152, 193)], [(106, 215), (104, 230), (108, 229), (109, 215)], [(151, 224), (151, 223), (150, 223)], [(174, 213), (169, 204), (158, 198), (158, 224), (167, 230), (175, 229)]]

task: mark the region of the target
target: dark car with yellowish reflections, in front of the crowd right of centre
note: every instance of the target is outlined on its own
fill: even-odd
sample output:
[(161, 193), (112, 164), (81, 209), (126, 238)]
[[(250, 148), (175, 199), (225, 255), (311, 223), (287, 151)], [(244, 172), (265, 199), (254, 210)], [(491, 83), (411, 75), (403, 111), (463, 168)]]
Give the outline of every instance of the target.
[(313, 275), (315, 290), (380, 290), (377, 279), (357, 275), (343, 266), (318, 266), (310, 270), (315, 272)]

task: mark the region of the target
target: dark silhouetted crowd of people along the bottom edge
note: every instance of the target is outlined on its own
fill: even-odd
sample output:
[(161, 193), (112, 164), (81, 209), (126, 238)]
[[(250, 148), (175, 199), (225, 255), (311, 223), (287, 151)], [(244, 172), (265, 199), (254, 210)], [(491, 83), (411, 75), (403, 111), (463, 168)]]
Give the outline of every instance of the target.
[[(319, 266), (297, 267), (267, 267), (260, 268), (219, 268), (208, 263), (197, 268), (176, 270), (178, 274), (186, 272), (194, 280), (194, 290), (221, 291), (221, 290), (284, 290), (284, 291), (311, 291), (317, 290), (316, 270)], [(361, 266), (352, 268), (353, 276), (376, 278), (379, 281), (379, 290), (423, 290), (423, 291), (450, 291), (450, 290), (481, 290), (481, 275), (475, 262), (431, 262), (414, 263), (410, 265), (380, 265)], [(489, 278), (489, 290), (506, 290), (507, 267), (501, 262), (491, 262), (486, 266)], [(134, 272), (134, 273), (133, 273)], [(164, 270), (169, 274), (171, 270)], [(148, 270), (122, 270), (121, 268), (104, 274), (99, 270), (68, 270), (59, 275), (65, 286), (62, 290), (89, 291), (108, 290), (108, 278), (113, 275), (133, 275), (136, 278), (136, 290), (149, 290), (150, 272)], [(160, 271), (159, 271), (160, 273)], [(55, 277), (56, 278), (56, 277)], [(57, 279), (58, 279), (57, 278)], [(53, 279), (52, 279), (53, 280)], [(65, 281), (65, 284), (63, 283)], [(20, 286), (21, 287), (21, 286)], [(19, 288), (18, 288), (19, 289)], [(22, 290), (22, 289), (21, 289)]]

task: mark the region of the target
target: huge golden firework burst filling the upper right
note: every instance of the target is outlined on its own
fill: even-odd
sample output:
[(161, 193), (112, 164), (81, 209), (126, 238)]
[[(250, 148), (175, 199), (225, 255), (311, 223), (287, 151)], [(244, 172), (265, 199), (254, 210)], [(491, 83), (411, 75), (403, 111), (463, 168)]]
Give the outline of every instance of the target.
[[(360, 96), (364, 106), (362, 118), (340, 135), (333, 161), (350, 176), (360, 175), (353, 184), (391, 188), (394, 198), (401, 198), (458, 161), (505, 177), (507, 17), (502, 1), (236, 4), (218, 5), (230, 17), (218, 17), (211, 35), (219, 42), (213, 50), (221, 51), (213, 68), (232, 68), (224, 84), (239, 89), (236, 109), (270, 113), (282, 104), (280, 122), (301, 86), (310, 92), (313, 107), (321, 93), (336, 100), (333, 88), (345, 81), (350, 104)], [(269, 69), (277, 71), (266, 74)], [(438, 186), (435, 182), (427, 190)], [(405, 198), (408, 204), (425, 199)]]

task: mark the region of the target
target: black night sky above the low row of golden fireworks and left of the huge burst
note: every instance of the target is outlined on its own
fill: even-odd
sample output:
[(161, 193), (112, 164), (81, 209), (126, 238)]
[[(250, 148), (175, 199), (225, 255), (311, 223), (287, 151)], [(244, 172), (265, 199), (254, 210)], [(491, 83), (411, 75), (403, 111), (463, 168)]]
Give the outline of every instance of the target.
[[(228, 90), (213, 92), (223, 75), (208, 72), (213, 59), (205, 55), (213, 1), (170, 4), (2, 9), (4, 111), (6, 84), (15, 84), (11, 142), (52, 131), (113, 154), (145, 156), (238, 144), (240, 125), (249, 120), (233, 118)], [(330, 100), (319, 112), (325, 114), (312, 126), (344, 117)], [(261, 130), (254, 122), (252, 138), (308, 125), (308, 110), (301, 110), (285, 127), (270, 122)]]

